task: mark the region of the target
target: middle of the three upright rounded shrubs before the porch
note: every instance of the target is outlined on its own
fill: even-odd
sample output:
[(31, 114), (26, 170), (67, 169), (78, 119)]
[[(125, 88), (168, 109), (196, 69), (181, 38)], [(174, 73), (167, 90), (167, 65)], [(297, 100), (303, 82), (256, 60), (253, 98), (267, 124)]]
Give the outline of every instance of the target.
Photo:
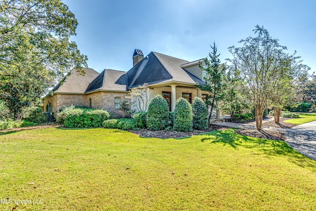
[(192, 106), (188, 100), (180, 97), (174, 108), (173, 129), (176, 131), (192, 131)]

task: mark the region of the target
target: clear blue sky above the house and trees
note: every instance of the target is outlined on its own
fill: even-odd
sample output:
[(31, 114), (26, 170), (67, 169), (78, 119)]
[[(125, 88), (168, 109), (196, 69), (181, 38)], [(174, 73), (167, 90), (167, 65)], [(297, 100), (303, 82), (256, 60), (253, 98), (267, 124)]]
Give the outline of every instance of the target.
[(79, 22), (77, 42), (90, 68), (128, 71), (134, 49), (188, 61), (214, 41), (222, 62), (231, 45), (264, 26), (287, 52), (316, 71), (315, 0), (63, 0)]

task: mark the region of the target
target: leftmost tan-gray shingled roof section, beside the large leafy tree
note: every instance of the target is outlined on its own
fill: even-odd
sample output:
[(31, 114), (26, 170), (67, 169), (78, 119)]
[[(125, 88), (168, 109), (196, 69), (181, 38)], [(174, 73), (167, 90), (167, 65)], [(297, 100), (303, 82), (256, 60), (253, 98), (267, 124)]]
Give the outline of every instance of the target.
[(79, 75), (77, 70), (73, 70), (66, 79), (63, 79), (62, 85), (58, 83), (54, 88), (54, 93), (84, 93), (87, 86), (99, 75), (93, 69), (83, 68), (85, 75)]

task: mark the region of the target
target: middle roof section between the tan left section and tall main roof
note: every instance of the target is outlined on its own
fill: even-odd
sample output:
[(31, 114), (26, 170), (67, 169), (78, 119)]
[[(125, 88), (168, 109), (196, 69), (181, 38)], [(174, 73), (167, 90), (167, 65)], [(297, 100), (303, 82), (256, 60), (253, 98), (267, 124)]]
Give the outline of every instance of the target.
[(125, 74), (126, 72), (123, 71), (105, 69), (88, 85), (85, 92), (94, 90), (127, 91)]

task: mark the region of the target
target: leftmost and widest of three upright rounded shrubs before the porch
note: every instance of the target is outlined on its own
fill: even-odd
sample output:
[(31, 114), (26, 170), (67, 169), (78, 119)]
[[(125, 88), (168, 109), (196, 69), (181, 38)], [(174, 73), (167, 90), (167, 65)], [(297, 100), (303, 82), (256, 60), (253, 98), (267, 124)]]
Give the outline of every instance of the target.
[(155, 95), (148, 106), (147, 128), (150, 130), (164, 129), (168, 125), (169, 106), (167, 101), (159, 94)]

